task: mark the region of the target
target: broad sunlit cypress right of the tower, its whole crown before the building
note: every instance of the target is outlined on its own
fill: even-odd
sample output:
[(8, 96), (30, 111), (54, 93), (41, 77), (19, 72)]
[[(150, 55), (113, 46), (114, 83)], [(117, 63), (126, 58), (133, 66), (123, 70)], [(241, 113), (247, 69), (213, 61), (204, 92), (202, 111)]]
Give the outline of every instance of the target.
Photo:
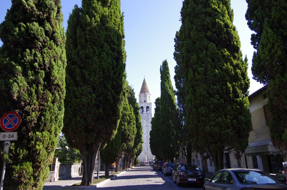
[(229, 0), (185, 0), (181, 16), (185, 122), (192, 148), (211, 154), (217, 171), (224, 150), (244, 152), (248, 145), (247, 59), (242, 59)]

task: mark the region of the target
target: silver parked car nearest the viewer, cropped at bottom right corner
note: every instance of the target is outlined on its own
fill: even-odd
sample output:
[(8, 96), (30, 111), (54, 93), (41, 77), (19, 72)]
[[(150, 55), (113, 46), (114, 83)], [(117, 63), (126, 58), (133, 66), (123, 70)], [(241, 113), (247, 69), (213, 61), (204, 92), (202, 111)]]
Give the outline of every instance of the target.
[(211, 179), (205, 178), (203, 189), (287, 189), (281, 181), (267, 172), (255, 169), (223, 169)]

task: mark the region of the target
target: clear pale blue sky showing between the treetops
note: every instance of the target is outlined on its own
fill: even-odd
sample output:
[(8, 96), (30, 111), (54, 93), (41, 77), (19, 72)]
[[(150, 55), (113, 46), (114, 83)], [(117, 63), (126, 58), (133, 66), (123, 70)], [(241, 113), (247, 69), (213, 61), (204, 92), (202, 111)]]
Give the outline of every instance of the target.
[[(63, 26), (67, 28), (69, 13), (75, 4), (81, 6), (81, 0), (62, 0)], [(1, 0), (0, 22), (5, 18), (6, 11), (11, 7), (10, 0)], [(154, 101), (160, 96), (159, 68), (167, 59), (173, 87), (174, 37), (181, 26), (180, 10), (182, 0), (121, 0), (121, 11), (124, 12), (124, 27), (126, 41), (126, 71), (127, 80), (138, 94), (145, 77), (149, 91)], [(252, 79), (251, 65), (253, 47), (250, 44), (252, 31), (245, 20), (247, 3), (245, 0), (231, 0), (234, 11), (234, 22), (241, 41), (242, 54), (247, 55), (249, 62), (248, 75), (251, 81), (249, 92), (252, 94), (263, 85)], [(0, 46), (2, 42), (0, 41)], [(152, 109), (154, 114), (154, 109)]]

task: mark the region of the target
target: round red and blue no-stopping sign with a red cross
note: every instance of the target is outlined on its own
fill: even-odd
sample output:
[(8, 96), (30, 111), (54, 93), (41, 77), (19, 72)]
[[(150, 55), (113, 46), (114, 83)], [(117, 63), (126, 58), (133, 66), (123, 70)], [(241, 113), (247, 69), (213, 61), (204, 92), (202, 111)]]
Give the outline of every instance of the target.
[(1, 117), (0, 127), (4, 131), (10, 132), (17, 129), (20, 123), (21, 123), (20, 114), (14, 111), (9, 111)]

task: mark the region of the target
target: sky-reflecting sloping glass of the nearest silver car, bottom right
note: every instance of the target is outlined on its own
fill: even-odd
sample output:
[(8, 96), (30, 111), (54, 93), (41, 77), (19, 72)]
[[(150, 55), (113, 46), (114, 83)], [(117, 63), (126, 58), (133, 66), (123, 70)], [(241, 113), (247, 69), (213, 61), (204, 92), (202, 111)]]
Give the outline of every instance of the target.
[(271, 177), (261, 171), (234, 171), (240, 183), (267, 184), (276, 183)]

